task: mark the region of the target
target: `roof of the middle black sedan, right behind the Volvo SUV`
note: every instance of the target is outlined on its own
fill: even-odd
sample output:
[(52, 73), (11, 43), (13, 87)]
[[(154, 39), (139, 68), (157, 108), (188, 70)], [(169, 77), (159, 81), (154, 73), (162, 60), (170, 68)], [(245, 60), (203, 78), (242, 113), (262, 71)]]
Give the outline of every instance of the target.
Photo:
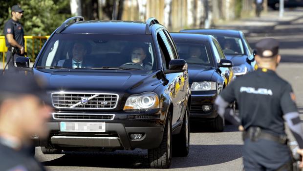
[(189, 40), (208, 42), (213, 36), (195, 33), (170, 33), (173, 40)]

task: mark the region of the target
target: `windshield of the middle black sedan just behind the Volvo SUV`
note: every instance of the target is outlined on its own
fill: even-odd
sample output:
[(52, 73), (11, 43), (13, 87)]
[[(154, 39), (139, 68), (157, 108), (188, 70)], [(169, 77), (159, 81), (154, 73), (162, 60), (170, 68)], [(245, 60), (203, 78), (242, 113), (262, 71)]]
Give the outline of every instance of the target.
[(180, 59), (186, 60), (189, 64), (213, 66), (210, 58), (210, 52), (203, 42), (184, 43), (178, 40), (174, 41), (178, 49)]

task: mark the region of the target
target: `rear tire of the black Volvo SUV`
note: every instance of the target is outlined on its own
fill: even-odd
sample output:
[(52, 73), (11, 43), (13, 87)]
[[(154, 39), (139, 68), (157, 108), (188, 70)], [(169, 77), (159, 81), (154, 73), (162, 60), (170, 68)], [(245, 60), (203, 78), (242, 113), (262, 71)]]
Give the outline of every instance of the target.
[(189, 108), (186, 107), (181, 132), (173, 137), (173, 156), (186, 157), (190, 149)]

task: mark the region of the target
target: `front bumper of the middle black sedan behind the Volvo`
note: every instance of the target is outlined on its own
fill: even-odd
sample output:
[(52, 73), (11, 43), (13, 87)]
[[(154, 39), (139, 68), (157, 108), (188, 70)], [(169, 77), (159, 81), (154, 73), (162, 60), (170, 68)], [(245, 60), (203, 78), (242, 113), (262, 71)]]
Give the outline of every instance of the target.
[[(216, 91), (209, 91), (205, 93), (192, 92), (192, 104), (190, 110), (191, 120), (212, 120), (217, 117), (217, 112), (214, 108), (215, 99), (217, 97)], [(203, 105), (210, 105), (209, 111), (203, 111)]]

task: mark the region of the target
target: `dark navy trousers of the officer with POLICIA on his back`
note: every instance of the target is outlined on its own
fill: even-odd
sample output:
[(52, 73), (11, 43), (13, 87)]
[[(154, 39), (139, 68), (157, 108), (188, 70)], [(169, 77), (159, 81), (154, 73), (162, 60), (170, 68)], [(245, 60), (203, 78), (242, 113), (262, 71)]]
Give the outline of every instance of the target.
[(244, 141), (243, 163), (245, 171), (277, 171), (291, 163), (290, 149), (286, 144), (264, 139), (253, 142), (247, 138)]

